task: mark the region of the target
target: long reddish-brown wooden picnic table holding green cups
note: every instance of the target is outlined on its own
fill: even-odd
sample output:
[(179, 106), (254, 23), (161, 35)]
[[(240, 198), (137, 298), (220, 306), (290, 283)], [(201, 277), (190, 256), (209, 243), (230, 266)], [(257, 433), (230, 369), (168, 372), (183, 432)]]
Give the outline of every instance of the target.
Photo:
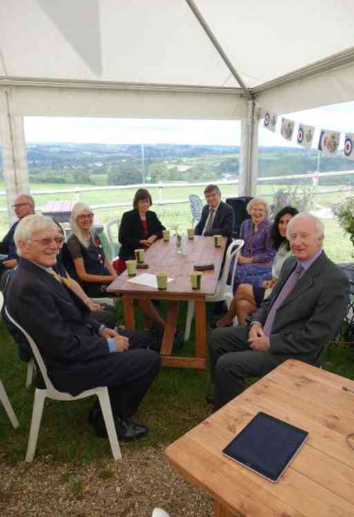
[[(133, 302), (135, 299), (168, 300), (166, 327), (161, 346), (162, 364), (164, 366), (190, 367), (205, 369), (206, 367), (206, 296), (215, 294), (220, 267), (224, 258), (226, 238), (222, 238), (222, 246), (214, 246), (213, 237), (195, 236), (195, 239), (184, 242), (186, 254), (177, 254), (176, 239), (169, 242), (162, 239), (156, 241), (145, 252), (148, 270), (138, 270), (138, 274), (157, 274), (164, 271), (173, 278), (166, 291), (154, 287), (137, 285), (128, 281), (128, 274), (123, 274), (110, 284), (107, 292), (120, 293), (124, 305), (124, 319), (128, 330), (135, 327)], [(190, 273), (195, 264), (214, 263), (215, 270), (203, 272), (201, 290), (190, 287)], [(173, 338), (175, 336), (179, 301), (195, 302), (195, 357), (171, 356)]]

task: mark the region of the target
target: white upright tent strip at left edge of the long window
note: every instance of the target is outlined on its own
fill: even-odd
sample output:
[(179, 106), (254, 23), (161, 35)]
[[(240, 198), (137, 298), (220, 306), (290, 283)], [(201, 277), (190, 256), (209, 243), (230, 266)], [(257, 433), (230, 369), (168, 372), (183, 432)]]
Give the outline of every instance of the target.
[(14, 221), (11, 205), (19, 194), (28, 194), (28, 167), (23, 117), (12, 112), (12, 96), (8, 88), (0, 89), (0, 140), (3, 178), (9, 222)]

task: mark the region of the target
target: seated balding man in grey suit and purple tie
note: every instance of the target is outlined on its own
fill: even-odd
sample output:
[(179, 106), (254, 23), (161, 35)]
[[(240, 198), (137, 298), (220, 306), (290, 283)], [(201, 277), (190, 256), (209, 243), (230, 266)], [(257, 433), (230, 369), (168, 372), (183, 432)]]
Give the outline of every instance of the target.
[(250, 325), (210, 335), (215, 410), (242, 392), (244, 378), (264, 376), (288, 358), (318, 365), (346, 314), (348, 279), (322, 250), (322, 222), (302, 212), (287, 234), (293, 256)]

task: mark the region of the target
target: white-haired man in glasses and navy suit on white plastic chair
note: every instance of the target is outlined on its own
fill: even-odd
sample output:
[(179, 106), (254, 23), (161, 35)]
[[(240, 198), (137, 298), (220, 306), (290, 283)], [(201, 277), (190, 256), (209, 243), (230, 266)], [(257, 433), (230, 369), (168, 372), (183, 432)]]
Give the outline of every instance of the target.
[[(159, 372), (160, 358), (148, 349), (146, 332), (118, 334), (89, 318), (85, 303), (53, 274), (60, 239), (47, 217), (32, 215), (19, 223), (14, 241), (20, 258), (6, 294), (8, 311), (35, 339), (59, 391), (77, 395), (108, 386), (119, 438), (141, 438), (148, 429), (131, 417)], [(98, 402), (89, 421), (97, 436), (106, 436)]]

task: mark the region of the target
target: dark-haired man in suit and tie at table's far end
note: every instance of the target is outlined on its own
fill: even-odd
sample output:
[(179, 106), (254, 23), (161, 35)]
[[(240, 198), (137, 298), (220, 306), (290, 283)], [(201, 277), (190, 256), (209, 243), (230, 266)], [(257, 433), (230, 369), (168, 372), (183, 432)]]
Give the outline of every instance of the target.
[(195, 227), (196, 235), (223, 235), (232, 239), (235, 225), (233, 208), (222, 201), (222, 193), (217, 185), (208, 185), (204, 190), (207, 205), (201, 212), (201, 218)]

